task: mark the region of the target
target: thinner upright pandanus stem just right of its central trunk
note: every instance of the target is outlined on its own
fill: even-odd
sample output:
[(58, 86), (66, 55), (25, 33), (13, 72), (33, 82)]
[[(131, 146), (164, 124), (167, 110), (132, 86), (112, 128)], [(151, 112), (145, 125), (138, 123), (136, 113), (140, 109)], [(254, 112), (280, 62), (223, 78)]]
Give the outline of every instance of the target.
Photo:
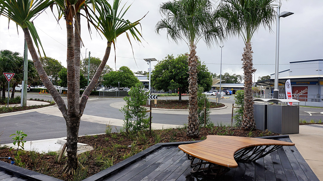
[(75, 31), (74, 31), (74, 54), (75, 54), (75, 107), (76, 111), (79, 112), (79, 103), (80, 103), (80, 53), (81, 53), (81, 14), (76, 13), (75, 18)]

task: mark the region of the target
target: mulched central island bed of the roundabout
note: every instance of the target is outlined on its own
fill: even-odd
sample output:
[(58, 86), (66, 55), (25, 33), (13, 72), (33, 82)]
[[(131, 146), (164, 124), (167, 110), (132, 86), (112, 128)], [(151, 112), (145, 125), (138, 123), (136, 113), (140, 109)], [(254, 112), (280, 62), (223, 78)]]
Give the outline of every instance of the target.
[[(217, 104), (215, 102), (210, 102), (210, 108), (219, 108), (224, 107), (224, 104)], [(145, 107), (149, 107), (149, 105), (143, 105)], [(151, 101), (151, 107), (153, 108), (162, 108), (162, 109), (188, 109), (188, 100), (182, 100), (179, 102), (178, 100), (157, 100), (157, 104), (155, 105), (154, 100)]]

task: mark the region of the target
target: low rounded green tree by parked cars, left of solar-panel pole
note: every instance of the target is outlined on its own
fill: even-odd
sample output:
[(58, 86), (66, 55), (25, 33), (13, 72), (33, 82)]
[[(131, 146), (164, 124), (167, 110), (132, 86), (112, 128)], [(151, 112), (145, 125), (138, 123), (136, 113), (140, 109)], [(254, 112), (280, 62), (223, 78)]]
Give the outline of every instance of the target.
[(103, 85), (105, 86), (118, 87), (118, 82), (120, 82), (120, 87), (132, 87), (140, 81), (126, 66), (120, 67), (118, 71), (110, 71), (103, 76)]

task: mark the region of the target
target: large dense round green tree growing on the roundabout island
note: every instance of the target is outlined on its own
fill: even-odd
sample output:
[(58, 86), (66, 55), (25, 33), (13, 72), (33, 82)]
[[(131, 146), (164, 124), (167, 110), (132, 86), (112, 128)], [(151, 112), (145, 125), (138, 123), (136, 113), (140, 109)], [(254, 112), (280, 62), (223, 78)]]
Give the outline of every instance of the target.
[[(204, 91), (210, 90), (212, 77), (205, 64), (198, 61), (197, 83)], [(167, 55), (165, 59), (158, 61), (151, 74), (151, 85), (157, 89), (174, 90), (179, 92), (179, 101), (182, 101), (182, 93), (187, 91), (188, 83), (188, 58), (184, 54)]]

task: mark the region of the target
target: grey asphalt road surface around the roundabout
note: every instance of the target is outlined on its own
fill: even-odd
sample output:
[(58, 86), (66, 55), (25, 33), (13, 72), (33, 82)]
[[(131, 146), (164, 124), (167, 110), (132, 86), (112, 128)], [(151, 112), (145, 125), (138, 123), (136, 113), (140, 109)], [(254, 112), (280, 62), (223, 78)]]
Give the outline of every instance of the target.
[[(20, 95), (19, 93), (17, 95)], [(234, 97), (231, 95), (229, 99), (222, 99), (222, 103), (233, 104)], [(28, 93), (27, 99), (38, 98), (44, 100), (50, 100), (50, 95)], [(211, 98), (211, 97), (210, 97)], [(63, 97), (65, 103), (67, 103), (67, 97)], [(159, 97), (159, 99), (176, 99), (176, 97)], [(182, 99), (188, 99), (187, 96), (183, 96)], [(210, 99), (215, 101), (214, 98)], [(122, 98), (105, 97), (105, 98), (90, 98), (87, 102), (84, 114), (99, 116), (102, 118), (115, 118), (122, 120), (123, 113), (119, 109), (111, 107), (110, 104), (122, 102)], [(228, 108), (227, 108), (228, 109)], [(231, 110), (226, 110), (231, 112)], [(299, 116), (300, 119), (307, 121), (319, 120), (323, 121), (322, 108), (307, 108), (300, 107)], [(164, 123), (164, 124), (176, 124), (183, 125), (187, 123), (187, 115), (185, 114), (161, 114), (152, 113), (152, 122)], [(222, 123), (231, 123), (231, 113), (224, 114), (211, 114), (211, 120), (215, 125)], [(81, 119), (82, 120), (82, 119)], [(112, 131), (120, 129), (120, 127), (113, 126)], [(106, 124), (100, 124), (95, 122), (81, 121), (79, 135), (99, 134), (104, 133)], [(60, 138), (66, 136), (65, 120), (62, 117), (54, 116), (50, 114), (42, 114), (38, 112), (30, 112), (17, 114), (12, 116), (0, 117), (0, 132), (3, 134), (0, 136), (0, 144), (12, 142), (9, 135), (13, 134), (16, 130), (23, 130), (27, 133), (26, 140), (41, 140), (49, 138)]]

